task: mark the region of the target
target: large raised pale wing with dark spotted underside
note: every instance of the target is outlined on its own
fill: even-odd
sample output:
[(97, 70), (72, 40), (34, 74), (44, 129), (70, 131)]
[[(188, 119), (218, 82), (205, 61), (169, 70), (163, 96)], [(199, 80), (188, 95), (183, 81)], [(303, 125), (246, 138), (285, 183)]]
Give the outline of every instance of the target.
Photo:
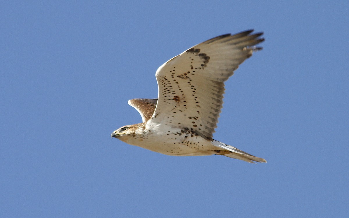
[(212, 138), (222, 108), (224, 81), (260, 47), (263, 33), (225, 34), (186, 50), (156, 71), (158, 102), (149, 122), (192, 129)]

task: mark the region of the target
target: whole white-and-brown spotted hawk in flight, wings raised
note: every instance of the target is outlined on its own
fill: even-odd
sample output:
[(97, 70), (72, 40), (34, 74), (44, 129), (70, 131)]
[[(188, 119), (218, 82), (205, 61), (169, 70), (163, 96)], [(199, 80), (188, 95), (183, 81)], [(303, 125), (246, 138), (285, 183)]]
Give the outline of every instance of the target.
[(111, 133), (130, 145), (171, 156), (222, 155), (246, 162), (267, 162), (213, 139), (220, 115), (224, 82), (239, 64), (262, 47), (263, 32), (223, 34), (195, 45), (156, 71), (157, 99), (132, 99), (128, 104), (142, 123)]

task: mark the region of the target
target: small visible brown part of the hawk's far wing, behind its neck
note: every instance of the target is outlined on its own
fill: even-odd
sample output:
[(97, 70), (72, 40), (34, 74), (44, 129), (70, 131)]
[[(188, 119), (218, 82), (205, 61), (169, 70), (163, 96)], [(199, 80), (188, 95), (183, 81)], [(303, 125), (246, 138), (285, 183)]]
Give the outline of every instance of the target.
[(142, 116), (142, 121), (147, 122), (154, 114), (157, 99), (131, 99), (128, 104), (138, 110)]

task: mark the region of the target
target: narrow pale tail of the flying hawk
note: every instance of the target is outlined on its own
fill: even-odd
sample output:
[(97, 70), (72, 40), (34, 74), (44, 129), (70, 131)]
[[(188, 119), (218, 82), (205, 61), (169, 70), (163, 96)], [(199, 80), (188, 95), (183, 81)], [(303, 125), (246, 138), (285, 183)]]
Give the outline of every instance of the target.
[(224, 150), (217, 150), (217, 155), (224, 155), (226, 157), (240, 159), (242, 161), (247, 161), (249, 163), (254, 163), (253, 161), (259, 162), (259, 163), (267, 163), (265, 159), (247, 154), (245, 151), (239, 150), (231, 145), (227, 145), (216, 140), (213, 140), (212, 143), (217, 147), (224, 148)]

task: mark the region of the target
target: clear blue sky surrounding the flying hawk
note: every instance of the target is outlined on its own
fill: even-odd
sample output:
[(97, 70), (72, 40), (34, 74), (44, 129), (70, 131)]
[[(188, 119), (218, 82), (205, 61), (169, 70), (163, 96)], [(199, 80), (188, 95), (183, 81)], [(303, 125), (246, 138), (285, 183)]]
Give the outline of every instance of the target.
[[(346, 217), (348, 1), (4, 1), (0, 217)], [(226, 83), (216, 140), (267, 159), (111, 139), (156, 69), (224, 33), (264, 49)]]

